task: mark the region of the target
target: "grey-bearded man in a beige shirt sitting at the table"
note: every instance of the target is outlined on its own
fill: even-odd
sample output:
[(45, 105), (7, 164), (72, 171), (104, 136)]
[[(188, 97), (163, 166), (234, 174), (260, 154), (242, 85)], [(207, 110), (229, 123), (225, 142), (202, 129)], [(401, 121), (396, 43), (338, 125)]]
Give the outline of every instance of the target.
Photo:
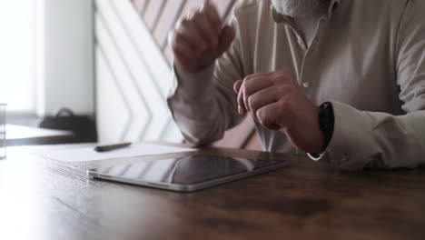
[(168, 105), (198, 145), (251, 115), (267, 151), (351, 170), (424, 165), (423, 9), (423, 0), (246, 0), (223, 26), (203, 5), (170, 37)]

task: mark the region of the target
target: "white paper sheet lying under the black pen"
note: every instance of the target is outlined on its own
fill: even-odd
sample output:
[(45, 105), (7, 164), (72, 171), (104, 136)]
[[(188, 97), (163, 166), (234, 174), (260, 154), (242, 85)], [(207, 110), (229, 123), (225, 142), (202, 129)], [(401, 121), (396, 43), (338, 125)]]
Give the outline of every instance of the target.
[(173, 153), (192, 152), (197, 149), (176, 147), (167, 145), (150, 145), (150, 144), (133, 144), (121, 149), (98, 153), (94, 151), (94, 147), (82, 147), (73, 149), (63, 149), (53, 152), (35, 153), (35, 155), (43, 156), (58, 161), (75, 163), (98, 161), (114, 158), (133, 157), (142, 155), (163, 155)]

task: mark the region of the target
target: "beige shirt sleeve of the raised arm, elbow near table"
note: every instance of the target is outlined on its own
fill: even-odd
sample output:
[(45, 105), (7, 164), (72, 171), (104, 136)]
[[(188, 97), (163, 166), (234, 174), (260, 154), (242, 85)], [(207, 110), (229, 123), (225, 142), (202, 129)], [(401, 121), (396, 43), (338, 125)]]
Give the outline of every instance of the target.
[(236, 32), (232, 45), (213, 65), (194, 74), (173, 69), (167, 103), (184, 138), (194, 145), (221, 139), (227, 129), (243, 120), (233, 92), (233, 83), (243, 79), (240, 31), (234, 16), (232, 25)]

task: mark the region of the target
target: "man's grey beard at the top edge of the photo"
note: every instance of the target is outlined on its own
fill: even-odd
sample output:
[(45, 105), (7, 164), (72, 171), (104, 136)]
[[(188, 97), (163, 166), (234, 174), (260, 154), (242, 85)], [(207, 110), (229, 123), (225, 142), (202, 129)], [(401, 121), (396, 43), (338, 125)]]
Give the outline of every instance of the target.
[(297, 17), (310, 15), (321, 6), (321, 0), (272, 0), (272, 5), (281, 15)]

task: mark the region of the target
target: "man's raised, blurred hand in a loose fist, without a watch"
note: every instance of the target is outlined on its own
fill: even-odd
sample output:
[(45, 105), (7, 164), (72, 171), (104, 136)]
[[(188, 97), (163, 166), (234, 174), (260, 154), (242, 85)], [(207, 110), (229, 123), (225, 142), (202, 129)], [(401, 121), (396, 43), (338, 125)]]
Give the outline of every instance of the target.
[(213, 64), (232, 44), (234, 35), (232, 26), (222, 26), (214, 5), (207, 3), (191, 11), (169, 36), (175, 67), (193, 73)]

